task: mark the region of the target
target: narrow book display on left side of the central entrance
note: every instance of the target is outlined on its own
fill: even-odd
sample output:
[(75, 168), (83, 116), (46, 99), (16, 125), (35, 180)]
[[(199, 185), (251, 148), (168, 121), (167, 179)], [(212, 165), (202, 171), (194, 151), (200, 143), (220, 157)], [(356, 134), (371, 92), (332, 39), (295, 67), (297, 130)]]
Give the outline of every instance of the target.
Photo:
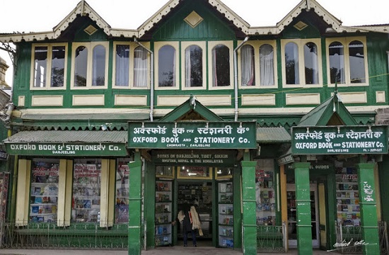
[(156, 246), (172, 244), (172, 182), (156, 181)]

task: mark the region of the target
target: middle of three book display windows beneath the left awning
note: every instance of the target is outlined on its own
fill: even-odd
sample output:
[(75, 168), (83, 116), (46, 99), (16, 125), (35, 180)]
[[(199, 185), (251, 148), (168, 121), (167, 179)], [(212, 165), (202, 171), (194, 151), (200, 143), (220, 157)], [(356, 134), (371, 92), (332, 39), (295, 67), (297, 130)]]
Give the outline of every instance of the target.
[(100, 174), (101, 164), (74, 164), (72, 221), (100, 221)]

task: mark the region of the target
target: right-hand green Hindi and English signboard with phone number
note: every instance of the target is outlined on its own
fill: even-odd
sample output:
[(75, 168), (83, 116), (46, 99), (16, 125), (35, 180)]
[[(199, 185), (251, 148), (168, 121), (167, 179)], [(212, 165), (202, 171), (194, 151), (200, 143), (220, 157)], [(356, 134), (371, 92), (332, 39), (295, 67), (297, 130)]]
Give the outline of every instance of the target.
[(388, 153), (385, 125), (294, 127), (291, 132), (294, 155)]

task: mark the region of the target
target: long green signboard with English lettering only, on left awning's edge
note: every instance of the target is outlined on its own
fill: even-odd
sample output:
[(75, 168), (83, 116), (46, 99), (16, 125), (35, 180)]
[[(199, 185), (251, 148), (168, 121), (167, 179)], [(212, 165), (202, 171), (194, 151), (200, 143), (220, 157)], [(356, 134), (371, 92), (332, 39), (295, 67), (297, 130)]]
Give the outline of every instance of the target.
[(127, 156), (124, 143), (6, 143), (6, 150), (25, 156)]

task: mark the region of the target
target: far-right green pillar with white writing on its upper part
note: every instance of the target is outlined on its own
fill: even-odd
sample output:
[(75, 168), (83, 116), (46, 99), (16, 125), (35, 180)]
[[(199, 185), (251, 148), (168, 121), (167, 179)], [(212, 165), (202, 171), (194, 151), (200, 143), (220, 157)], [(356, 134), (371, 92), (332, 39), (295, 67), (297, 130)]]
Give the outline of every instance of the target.
[(376, 187), (374, 186), (374, 164), (357, 164), (359, 206), (361, 210), (361, 229), (366, 254), (380, 254), (378, 237), (378, 219), (376, 204)]

